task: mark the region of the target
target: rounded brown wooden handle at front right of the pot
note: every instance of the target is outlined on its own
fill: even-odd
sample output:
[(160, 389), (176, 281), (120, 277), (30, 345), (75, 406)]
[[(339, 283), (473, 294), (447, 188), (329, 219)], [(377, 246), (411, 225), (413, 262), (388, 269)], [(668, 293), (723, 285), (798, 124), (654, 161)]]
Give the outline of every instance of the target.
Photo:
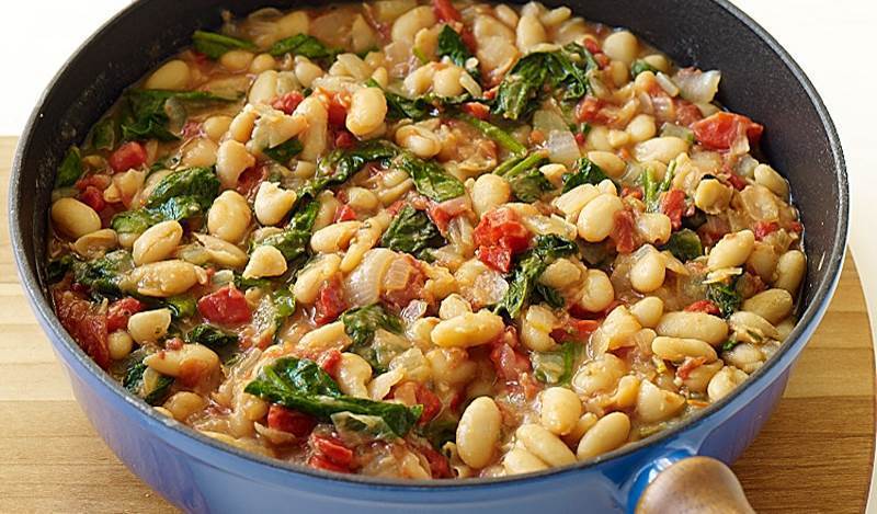
[(682, 459), (642, 491), (637, 514), (754, 513), (740, 481), (724, 462), (711, 457)]

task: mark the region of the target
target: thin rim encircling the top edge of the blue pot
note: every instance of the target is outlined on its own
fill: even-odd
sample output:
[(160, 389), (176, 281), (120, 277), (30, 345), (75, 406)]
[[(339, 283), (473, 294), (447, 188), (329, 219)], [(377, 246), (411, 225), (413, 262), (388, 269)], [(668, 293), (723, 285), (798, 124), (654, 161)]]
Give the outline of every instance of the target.
[[(831, 300), (831, 296), (840, 278), (840, 271), (843, 265), (845, 248), (846, 248), (846, 238), (848, 229), (848, 204), (850, 204), (846, 165), (843, 157), (843, 150), (841, 148), (840, 138), (838, 136), (838, 132), (834, 127), (831, 116), (828, 113), (828, 110), (825, 108), (824, 103), (822, 102), (822, 99), (819, 96), (819, 93), (813, 88), (813, 84), (807, 78), (806, 73), (804, 72), (804, 70), (801, 70), (798, 64), (779, 45), (779, 43), (777, 43), (776, 39), (774, 39), (774, 37), (771, 36), (761, 25), (759, 25), (743, 11), (731, 4), (728, 0), (710, 0), (710, 1), (719, 5), (721, 9), (727, 11), (731, 16), (736, 18), (739, 22), (745, 25), (750, 31), (752, 31), (758, 36), (759, 39), (762, 41), (764, 45), (766, 45), (772, 52), (774, 52), (779, 56), (785, 66), (795, 76), (799, 87), (802, 88), (804, 91), (807, 93), (810, 102), (812, 103), (813, 107), (819, 114), (820, 122), (829, 137), (829, 144), (830, 144), (829, 150), (833, 157), (834, 168), (835, 168), (834, 171), (836, 172), (836, 186), (839, 191), (839, 205), (838, 205), (839, 217), (838, 217), (838, 225), (835, 227), (836, 236), (832, 245), (831, 253), (827, 255), (828, 262), (822, 263), (823, 265), (827, 265), (827, 267), (824, 267), (824, 272), (822, 274), (823, 278), (820, 281), (813, 301), (811, 301), (810, 305), (807, 306), (807, 308), (801, 315), (800, 320), (798, 321), (798, 324), (790, 333), (788, 340), (783, 344), (781, 351), (776, 355), (774, 355), (764, 366), (762, 366), (759, 370), (753, 373), (750, 376), (750, 378), (742, 385), (742, 387), (738, 387), (731, 395), (722, 398), (716, 403), (710, 404), (703, 411), (690, 416), (682, 423), (673, 427), (663, 430), (639, 442), (625, 445), (622, 448), (604, 454), (597, 458), (577, 462), (571, 466), (554, 468), (545, 471), (538, 471), (526, 475), (516, 475), (512, 477), (475, 478), (475, 479), (464, 479), (464, 480), (457, 479), (457, 480), (400, 481), (400, 480), (365, 477), (357, 475), (346, 476), (346, 475), (322, 471), (303, 465), (284, 462), (278, 459), (272, 459), (269, 457), (262, 457), (253, 453), (241, 450), (226, 443), (218, 442), (212, 437), (201, 434), (194, 429), (191, 429), (182, 423), (166, 418), (163, 414), (158, 413), (153, 408), (143, 402), (139, 398), (134, 397), (134, 395), (128, 392), (118, 382), (113, 380), (106, 373), (104, 373), (94, 363), (94, 361), (79, 347), (79, 345), (67, 333), (67, 331), (60, 325), (60, 322), (56, 318), (55, 311), (50, 302), (45, 297), (44, 290), (41, 287), (38, 278), (39, 275), (37, 271), (33, 266), (31, 266), (29, 260), (25, 258), (25, 253), (27, 252), (26, 241), (30, 239), (30, 235), (22, 233), (20, 229), (20, 212), (16, 208), (19, 204), (16, 196), (19, 193), (19, 189), (21, 187), (20, 183), (21, 183), (24, 156), (25, 153), (27, 153), (29, 147), (31, 146), (31, 133), (33, 132), (34, 126), (42, 121), (43, 116), (41, 113), (43, 110), (43, 105), (46, 103), (47, 99), (50, 96), (52, 92), (55, 90), (58, 82), (61, 81), (68, 73), (75, 72), (75, 67), (73, 67), (75, 61), (86, 52), (90, 50), (93, 39), (99, 34), (109, 31), (115, 23), (118, 22), (119, 19), (124, 16), (136, 15), (139, 5), (143, 5), (145, 3), (144, 0), (136, 1), (133, 4), (123, 9), (122, 11), (119, 11), (115, 16), (113, 16), (106, 23), (104, 23), (96, 32), (94, 32), (94, 34), (89, 36), (89, 38), (86, 39), (80, 45), (80, 47), (71, 55), (71, 57), (65, 62), (65, 65), (60, 68), (60, 70), (55, 75), (49, 84), (46, 87), (45, 91), (39, 98), (39, 101), (36, 104), (36, 107), (33, 110), (25, 125), (22, 139), (19, 141), (15, 151), (15, 157), (12, 165), (12, 176), (10, 180), (10, 190), (9, 190), (10, 232), (12, 236), (11, 240), (12, 240), (13, 253), (15, 256), (19, 275), (22, 279), (22, 285), (26, 290), (27, 296), (31, 299), (32, 306), (36, 310), (36, 313), (43, 319), (44, 321), (43, 327), (48, 328), (49, 331), (48, 335), (50, 336), (49, 339), (52, 340), (52, 343), (56, 347), (56, 350), (58, 352), (66, 353), (68, 357), (76, 359), (81, 366), (87, 368), (89, 373), (93, 374), (103, 384), (103, 386), (105, 386), (110, 391), (112, 391), (116, 397), (118, 397), (118, 399), (124, 400), (125, 402), (128, 403), (128, 406), (133, 407), (135, 410), (139, 411), (140, 414), (145, 415), (147, 421), (151, 422), (152, 426), (160, 427), (159, 430), (162, 431), (170, 430), (171, 435), (182, 434), (184, 436), (195, 439), (202, 445), (212, 447), (213, 449), (226, 452), (232, 454), (238, 458), (242, 458), (252, 462), (267, 466), (270, 468), (275, 468), (277, 470), (288, 471), (296, 475), (305, 475), (312, 478), (329, 480), (333, 482), (340, 482), (346, 486), (365, 486), (371, 488), (384, 488), (384, 489), (392, 489), (400, 491), (412, 491), (412, 490), (435, 491), (445, 489), (460, 490), (467, 488), (485, 489), (488, 486), (494, 486), (494, 487), (513, 486), (514, 483), (520, 482), (522, 480), (534, 481), (540, 479), (550, 479), (553, 477), (557, 477), (562, 473), (577, 472), (582, 469), (591, 468), (601, 462), (605, 462), (615, 458), (633, 454), (635, 452), (642, 449), (646, 446), (658, 447), (664, 441), (674, 437), (687, 431), (688, 429), (692, 429), (695, 424), (709, 420), (710, 418), (713, 418), (714, 414), (722, 410), (725, 406), (732, 402), (743, 390), (755, 387), (756, 385), (762, 385), (762, 382), (764, 381), (764, 377), (768, 373), (771, 373), (771, 370), (774, 367), (776, 367), (781, 361), (785, 361), (786, 359), (785, 357), (788, 357), (789, 353), (794, 352), (793, 355), (796, 355), (800, 350), (802, 350), (804, 345), (807, 343), (807, 340), (801, 338), (802, 333), (815, 329), (816, 324), (819, 322), (825, 309), (828, 308), (828, 304)], [(174, 432), (176, 434), (173, 434)], [(159, 432), (157, 435), (160, 434), (161, 432)], [(187, 450), (183, 449), (183, 452)], [(227, 469), (227, 471), (235, 472), (231, 469)], [(637, 469), (634, 471), (639, 471), (639, 470)]]

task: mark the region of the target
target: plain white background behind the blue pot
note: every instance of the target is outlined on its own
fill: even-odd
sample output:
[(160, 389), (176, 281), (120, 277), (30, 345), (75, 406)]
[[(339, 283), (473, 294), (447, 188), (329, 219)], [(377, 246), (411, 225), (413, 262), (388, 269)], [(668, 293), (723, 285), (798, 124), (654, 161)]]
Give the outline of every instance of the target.
[[(877, 319), (877, 244), (872, 235), (877, 226), (877, 59), (872, 44), (877, 2), (733, 1), (801, 65), (838, 125), (851, 179), (851, 243), (872, 319)], [(0, 135), (21, 132), (55, 70), (80, 42), (127, 3), (125, 0), (29, 0), (2, 10), (0, 53), (4, 73), (0, 79)], [(872, 488), (874, 499), (875, 488)]]

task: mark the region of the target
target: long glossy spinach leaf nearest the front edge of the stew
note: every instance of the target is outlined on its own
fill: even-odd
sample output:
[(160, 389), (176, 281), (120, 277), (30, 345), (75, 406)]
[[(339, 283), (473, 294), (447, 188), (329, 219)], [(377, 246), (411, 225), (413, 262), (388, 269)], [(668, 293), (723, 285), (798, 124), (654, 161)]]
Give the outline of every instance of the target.
[(408, 408), (401, 403), (364, 400), (342, 395), (328, 373), (309, 359), (283, 357), (262, 368), (246, 392), (287, 409), (331, 420), (332, 414), (350, 412), (384, 420), (398, 436), (407, 434), (420, 419), (422, 406)]

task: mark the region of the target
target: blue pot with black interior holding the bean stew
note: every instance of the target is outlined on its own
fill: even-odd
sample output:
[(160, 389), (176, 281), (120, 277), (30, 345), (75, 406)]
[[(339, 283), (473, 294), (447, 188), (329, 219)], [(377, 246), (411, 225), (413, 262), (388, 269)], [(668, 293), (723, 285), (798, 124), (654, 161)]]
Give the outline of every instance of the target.
[[(219, 24), (221, 0), (139, 1), (107, 22), (58, 72), (19, 145), (10, 229), (22, 284), (64, 363), (77, 400), (113, 452), (171, 503), (191, 512), (622, 512), (673, 462), (694, 455), (732, 462), (783, 395), (790, 367), (828, 307), (844, 256), (848, 193), (838, 135), (804, 72), (725, 0), (568, 2), (589, 20), (626, 26), (684, 65), (722, 70), (719, 100), (767, 127), (763, 150), (791, 183), (807, 233), (800, 322), (783, 350), (734, 393), (674, 429), (593, 461), (527, 476), (399, 482), (338, 476), (232, 448), (157, 414), (89, 358), (58, 322), (44, 282), (55, 169), (123, 89)], [(232, 11), (295, 2), (247, 0)], [(173, 13), (169, 23), (168, 13)]]

